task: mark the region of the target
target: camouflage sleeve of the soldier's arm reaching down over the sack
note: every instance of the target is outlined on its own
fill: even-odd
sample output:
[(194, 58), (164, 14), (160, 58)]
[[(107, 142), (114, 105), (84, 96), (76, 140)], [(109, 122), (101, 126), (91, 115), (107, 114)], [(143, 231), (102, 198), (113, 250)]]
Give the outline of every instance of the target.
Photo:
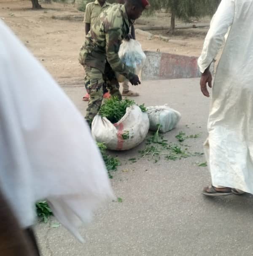
[(130, 72), (129, 68), (121, 61), (118, 57), (118, 50), (122, 41), (122, 30), (121, 28), (112, 28), (109, 29), (105, 35), (106, 38), (106, 59), (109, 62), (112, 69), (124, 75), (128, 80), (131, 80), (134, 76)]

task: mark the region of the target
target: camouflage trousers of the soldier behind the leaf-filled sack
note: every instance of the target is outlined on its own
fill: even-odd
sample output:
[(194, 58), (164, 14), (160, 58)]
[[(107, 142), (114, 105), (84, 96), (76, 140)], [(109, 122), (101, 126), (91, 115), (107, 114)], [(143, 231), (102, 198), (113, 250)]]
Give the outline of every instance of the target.
[(107, 87), (112, 96), (116, 96), (121, 100), (119, 92), (119, 83), (115, 77), (113, 70), (109, 64), (105, 67), (105, 72), (102, 73), (95, 67), (84, 65), (85, 88), (90, 95), (88, 107), (86, 109), (86, 121), (91, 124), (94, 116), (97, 115), (103, 100), (103, 87)]

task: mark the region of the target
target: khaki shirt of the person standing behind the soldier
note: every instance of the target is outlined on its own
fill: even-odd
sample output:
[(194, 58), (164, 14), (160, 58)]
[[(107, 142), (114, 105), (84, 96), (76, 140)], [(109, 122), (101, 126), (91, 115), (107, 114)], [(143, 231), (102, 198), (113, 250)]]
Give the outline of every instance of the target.
[(102, 11), (110, 6), (109, 3), (105, 2), (104, 5), (101, 7), (98, 0), (95, 0), (92, 3), (88, 3), (86, 5), (86, 10), (84, 14), (84, 23), (89, 23), (91, 26), (97, 21), (98, 16)]

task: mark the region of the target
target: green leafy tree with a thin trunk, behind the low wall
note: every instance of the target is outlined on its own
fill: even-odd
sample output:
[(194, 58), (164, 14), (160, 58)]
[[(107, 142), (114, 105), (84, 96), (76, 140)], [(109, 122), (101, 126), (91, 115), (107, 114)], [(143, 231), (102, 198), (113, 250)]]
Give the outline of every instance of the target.
[(175, 29), (175, 17), (188, 21), (191, 17), (213, 15), (221, 0), (149, 0), (149, 13), (165, 8), (171, 12), (170, 30)]

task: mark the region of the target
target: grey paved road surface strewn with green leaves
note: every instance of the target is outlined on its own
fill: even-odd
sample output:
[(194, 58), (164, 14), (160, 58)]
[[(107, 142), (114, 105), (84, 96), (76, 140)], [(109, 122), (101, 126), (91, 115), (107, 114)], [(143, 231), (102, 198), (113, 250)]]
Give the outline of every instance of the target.
[[(207, 135), (209, 100), (200, 94), (198, 83), (199, 79), (148, 81), (139, 86), (141, 96), (136, 98), (147, 106), (167, 103), (180, 111), (180, 124), (165, 137), (176, 142), (180, 130), (202, 133), (185, 141), (191, 152), (203, 152)], [(64, 90), (84, 113), (83, 88)], [(140, 159), (131, 164), (128, 159), (144, 147), (118, 154), (122, 165), (112, 186), (123, 202), (111, 202), (96, 212), (92, 224), (81, 229), (85, 244), (63, 227), (37, 226), (43, 256), (253, 255), (251, 195), (203, 197), (202, 187), (210, 183), (207, 167), (196, 165), (205, 162), (203, 156), (177, 161), (161, 157), (156, 164)]]

